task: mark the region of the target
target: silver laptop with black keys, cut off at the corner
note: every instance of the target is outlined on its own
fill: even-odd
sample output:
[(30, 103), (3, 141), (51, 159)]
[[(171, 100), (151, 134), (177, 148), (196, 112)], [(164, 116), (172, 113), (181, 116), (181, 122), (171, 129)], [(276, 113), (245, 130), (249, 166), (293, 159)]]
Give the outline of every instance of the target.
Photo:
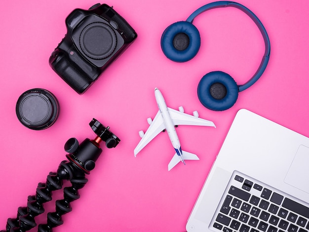
[(309, 138), (240, 110), (188, 232), (309, 232)]

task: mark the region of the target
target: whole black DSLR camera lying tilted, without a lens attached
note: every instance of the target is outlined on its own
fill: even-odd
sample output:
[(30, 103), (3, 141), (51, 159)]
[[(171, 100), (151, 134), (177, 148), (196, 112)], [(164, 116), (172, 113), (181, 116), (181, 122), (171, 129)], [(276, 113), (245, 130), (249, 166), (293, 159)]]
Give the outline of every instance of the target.
[(67, 34), (51, 54), (49, 65), (78, 94), (137, 38), (134, 29), (107, 4), (73, 10), (66, 26)]

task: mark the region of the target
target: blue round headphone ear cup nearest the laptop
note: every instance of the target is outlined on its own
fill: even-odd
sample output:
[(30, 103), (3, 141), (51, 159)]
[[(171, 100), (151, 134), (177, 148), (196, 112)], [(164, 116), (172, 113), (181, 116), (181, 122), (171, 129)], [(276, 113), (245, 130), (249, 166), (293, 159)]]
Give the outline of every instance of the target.
[(213, 111), (231, 108), (238, 98), (235, 80), (221, 71), (206, 74), (198, 83), (197, 96), (204, 107)]

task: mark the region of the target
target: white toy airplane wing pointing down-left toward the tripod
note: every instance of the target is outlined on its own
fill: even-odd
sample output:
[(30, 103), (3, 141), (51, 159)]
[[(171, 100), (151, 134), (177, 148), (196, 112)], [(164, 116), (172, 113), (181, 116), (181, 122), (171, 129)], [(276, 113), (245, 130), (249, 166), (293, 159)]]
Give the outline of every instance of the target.
[(138, 154), (150, 141), (153, 140), (155, 136), (157, 136), (164, 129), (165, 126), (163, 119), (160, 112), (158, 111), (154, 117), (153, 122), (145, 132), (145, 135), (134, 149), (134, 155), (136, 156), (136, 154)]

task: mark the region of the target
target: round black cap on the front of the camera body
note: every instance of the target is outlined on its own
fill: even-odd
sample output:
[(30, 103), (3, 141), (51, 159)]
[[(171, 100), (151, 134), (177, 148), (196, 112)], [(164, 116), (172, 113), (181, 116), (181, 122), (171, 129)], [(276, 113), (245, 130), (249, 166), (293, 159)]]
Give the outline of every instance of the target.
[(79, 37), (79, 44), (84, 54), (96, 60), (109, 57), (114, 52), (116, 43), (114, 30), (102, 22), (88, 24)]

